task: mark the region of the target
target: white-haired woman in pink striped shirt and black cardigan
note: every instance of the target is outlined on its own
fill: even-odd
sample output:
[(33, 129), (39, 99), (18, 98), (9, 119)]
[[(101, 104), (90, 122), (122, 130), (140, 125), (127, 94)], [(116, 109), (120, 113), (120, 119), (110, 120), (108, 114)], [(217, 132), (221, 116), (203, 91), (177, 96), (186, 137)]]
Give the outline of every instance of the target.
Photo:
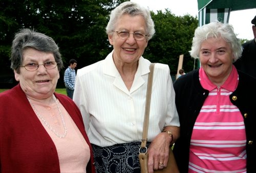
[(232, 64), (242, 54), (230, 24), (195, 30), (190, 55), (201, 67), (174, 82), (181, 173), (256, 172), (256, 79)]

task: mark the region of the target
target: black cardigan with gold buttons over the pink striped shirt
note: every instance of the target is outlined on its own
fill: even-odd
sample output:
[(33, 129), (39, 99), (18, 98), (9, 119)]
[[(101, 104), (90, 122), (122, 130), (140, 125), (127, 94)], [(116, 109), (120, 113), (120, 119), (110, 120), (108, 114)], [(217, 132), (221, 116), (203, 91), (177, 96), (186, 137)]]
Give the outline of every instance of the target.
[[(238, 86), (230, 95), (230, 100), (244, 117), (247, 173), (256, 173), (256, 79), (241, 71), (238, 71), (238, 75)], [(187, 173), (192, 130), (209, 91), (200, 85), (199, 69), (177, 79), (174, 90), (180, 118), (180, 138), (174, 144), (174, 155), (180, 172)]]

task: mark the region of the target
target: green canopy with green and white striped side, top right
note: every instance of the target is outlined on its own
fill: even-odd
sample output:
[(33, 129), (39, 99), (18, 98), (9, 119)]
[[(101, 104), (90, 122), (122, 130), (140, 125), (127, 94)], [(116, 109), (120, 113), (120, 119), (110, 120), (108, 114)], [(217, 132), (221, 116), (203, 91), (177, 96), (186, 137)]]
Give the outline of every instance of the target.
[(228, 23), (231, 11), (256, 8), (256, 0), (198, 0), (198, 26), (214, 20)]

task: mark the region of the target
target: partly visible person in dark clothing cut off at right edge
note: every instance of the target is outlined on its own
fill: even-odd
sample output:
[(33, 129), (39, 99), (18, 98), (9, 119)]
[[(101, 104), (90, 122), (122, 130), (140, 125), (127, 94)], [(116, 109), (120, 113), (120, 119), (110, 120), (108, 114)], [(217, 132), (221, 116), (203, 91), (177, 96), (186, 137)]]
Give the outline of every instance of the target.
[(247, 41), (243, 46), (242, 57), (234, 62), (236, 69), (244, 71), (256, 78), (256, 16), (252, 19), (254, 39)]

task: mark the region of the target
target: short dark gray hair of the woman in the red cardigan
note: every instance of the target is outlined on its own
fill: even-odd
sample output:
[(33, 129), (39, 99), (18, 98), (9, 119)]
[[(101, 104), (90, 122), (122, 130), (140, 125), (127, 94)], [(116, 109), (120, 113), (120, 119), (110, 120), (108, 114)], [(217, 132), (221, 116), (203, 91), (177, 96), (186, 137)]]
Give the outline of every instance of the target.
[(36, 32), (32, 29), (20, 29), (18, 33), (15, 34), (14, 40), (12, 41), (11, 49), (11, 68), (20, 73), (20, 65), (23, 62), (23, 51), (26, 48), (33, 48), (38, 51), (53, 53), (54, 59), (57, 62), (58, 70), (63, 68), (62, 57), (60, 55), (59, 47), (55, 41), (43, 34)]

